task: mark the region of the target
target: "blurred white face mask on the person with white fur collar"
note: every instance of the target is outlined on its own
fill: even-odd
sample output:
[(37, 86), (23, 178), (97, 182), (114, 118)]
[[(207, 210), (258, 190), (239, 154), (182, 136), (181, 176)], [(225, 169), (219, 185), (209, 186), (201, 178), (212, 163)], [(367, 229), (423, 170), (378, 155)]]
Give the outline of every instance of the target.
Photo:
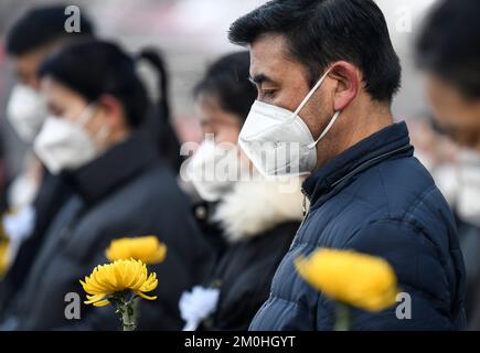
[(226, 150), (205, 139), (191, 158), (186, 173), (200, 196), (215, 202), (232, 190), (243, 168), (238, 149)]

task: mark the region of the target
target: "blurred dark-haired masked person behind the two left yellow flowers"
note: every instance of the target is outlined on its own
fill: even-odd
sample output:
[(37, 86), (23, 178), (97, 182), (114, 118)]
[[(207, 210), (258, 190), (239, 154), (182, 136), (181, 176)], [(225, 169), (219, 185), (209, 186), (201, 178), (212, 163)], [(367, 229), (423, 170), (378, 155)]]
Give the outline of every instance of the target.
[(211, 250), (189, 202), (157, 146), (140, 129), (149, 99), (135, 61), (116, 44), (72, 44), (40, 68), (49, 116), (34, 150), (74, 195), (55, 217), (24, 286), (3, 321), (9, 330), (115, 330), (110, 308), (85, 308), (65, 318), (64, 297), (83, 292), (78, 279), (99, 264), (114, 238), (156, 235), (168, 247), (153, 266), (158, 299), (141, 302), (138, 328), (175, 330), (177, 302), (210, 266)]

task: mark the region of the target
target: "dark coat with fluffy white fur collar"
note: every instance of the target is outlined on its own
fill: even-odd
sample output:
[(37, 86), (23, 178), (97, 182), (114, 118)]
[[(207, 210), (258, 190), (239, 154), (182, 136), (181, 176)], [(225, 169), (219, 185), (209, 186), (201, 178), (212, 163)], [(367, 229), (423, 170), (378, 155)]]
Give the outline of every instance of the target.
[(201, 330), (246, 331), (267, 300), (274, 274), (302, 218), (300, 188), (280, 193), (273, 182), (241, 182), (213, 212), (226, 247), (206, 285), (220, 289)]

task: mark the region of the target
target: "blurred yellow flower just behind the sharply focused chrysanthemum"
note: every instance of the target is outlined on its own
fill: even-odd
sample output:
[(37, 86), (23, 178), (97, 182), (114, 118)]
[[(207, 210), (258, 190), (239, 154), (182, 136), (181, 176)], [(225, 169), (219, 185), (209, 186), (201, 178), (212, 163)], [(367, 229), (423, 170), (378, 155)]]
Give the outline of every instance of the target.
[(163, 261), (167, 246), (153, 235), (120, 238), (110, 243), (105, 255), (110, 261), (135, 258), (143, 264), (153, 265)]

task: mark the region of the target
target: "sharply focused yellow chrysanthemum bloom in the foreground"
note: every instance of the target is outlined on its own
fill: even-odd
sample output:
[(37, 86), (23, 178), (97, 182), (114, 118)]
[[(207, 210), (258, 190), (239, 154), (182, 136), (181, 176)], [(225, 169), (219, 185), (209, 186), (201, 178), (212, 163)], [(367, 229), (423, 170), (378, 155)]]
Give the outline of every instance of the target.
[(154, 300), (157, 297), (149, 297), (145, 292), (157, 288), (157, 274), (148, 274), (147, 266), (141, 260), (121, 259), (113, 264), (95, 267), (85, 281), (81, 280), (84, 290), (88, 293), (86, 304), (104, 307), (110, 303), (108, 298), (127, 290), (137, 296)]

